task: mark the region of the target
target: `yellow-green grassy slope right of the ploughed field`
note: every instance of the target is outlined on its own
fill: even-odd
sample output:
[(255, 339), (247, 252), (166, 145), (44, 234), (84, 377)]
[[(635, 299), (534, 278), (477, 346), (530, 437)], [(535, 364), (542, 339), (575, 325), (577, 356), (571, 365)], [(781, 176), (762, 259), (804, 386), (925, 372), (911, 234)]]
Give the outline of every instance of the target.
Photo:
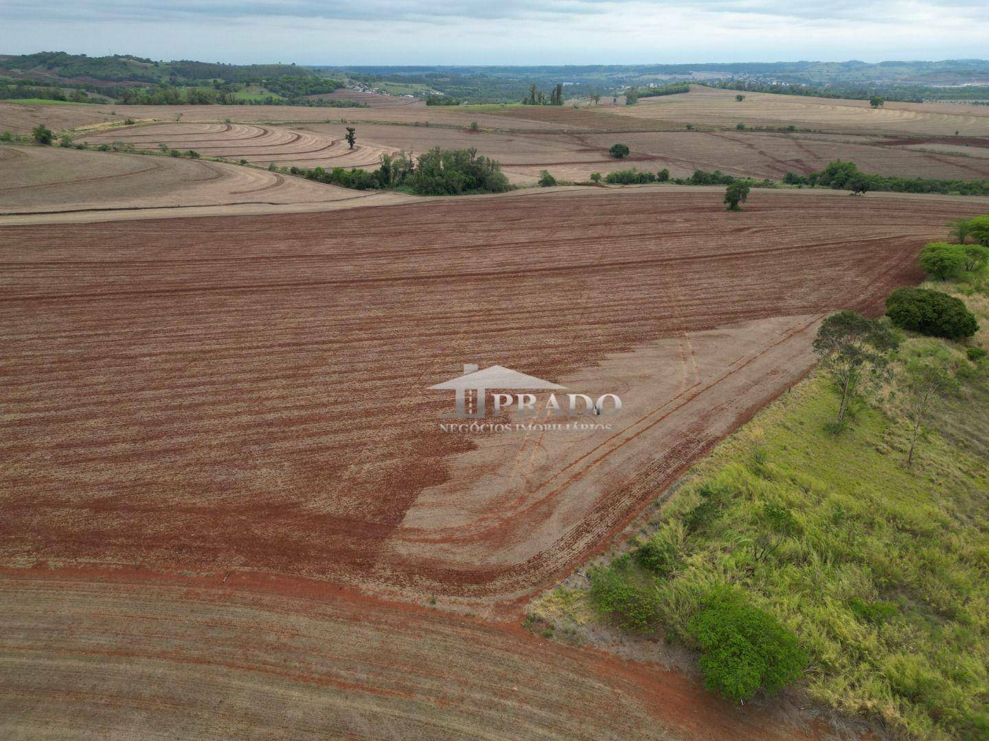
[[(989, 327), (986, 295), (966, 300)], [(940, 341), (907, 347), (930, 342)], [(617, 571), (655, 590), (656, 629), (669, 637), (689, 642), (699, 600), (731, 583), (810, 650), (803, 683), (814, 699), (920, 737), (989, 732), (989, 466), (978, 441), (966, 440), (989, 430), (987, 374), (983, 365), (966, 381), (965, 400), (934, 416), (913, 470), (893, 402), (862, 406), (835, 436), (825, 425), (836, 395), (811, 376), (697, 464), (649, 524), (649, 537), (676, 546), (674, 575), (655, 578), (634, 562)], [(684, 516), (712, 481), (732, 497), (687, 533)], [(788, 509), (799, 533), (774, 533), (768, 503)], [(760, 559), (766, 542), (775, 550)], [(892, 617), (862, 617), (856, 599)], [(557, 590), (534, 613), (581, 621), (587, 600)]]

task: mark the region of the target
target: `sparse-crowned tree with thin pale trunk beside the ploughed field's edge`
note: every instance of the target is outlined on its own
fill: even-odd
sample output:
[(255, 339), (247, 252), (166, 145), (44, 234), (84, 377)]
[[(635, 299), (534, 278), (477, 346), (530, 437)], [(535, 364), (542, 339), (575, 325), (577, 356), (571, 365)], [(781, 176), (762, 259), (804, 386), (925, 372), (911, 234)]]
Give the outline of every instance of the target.
[(875, 319), (855, 311), (839, 311), (827, 317), (814, 338), (814, 352), (821, 358), (821, 370), (842, 396), (838, 407), (838, 427), (855, 390), (884, 377), (889, 367), (887, 353), (896, 348), (896, 337)]

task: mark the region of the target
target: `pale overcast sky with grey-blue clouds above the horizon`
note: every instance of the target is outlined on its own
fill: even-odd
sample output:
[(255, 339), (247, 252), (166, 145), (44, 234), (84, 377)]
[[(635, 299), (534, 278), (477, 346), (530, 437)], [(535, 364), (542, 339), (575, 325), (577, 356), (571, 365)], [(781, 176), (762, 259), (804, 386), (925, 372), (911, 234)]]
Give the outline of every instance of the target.
[(985, 57), (987, 0), (0, 0), (0, 53), (303, 64)]

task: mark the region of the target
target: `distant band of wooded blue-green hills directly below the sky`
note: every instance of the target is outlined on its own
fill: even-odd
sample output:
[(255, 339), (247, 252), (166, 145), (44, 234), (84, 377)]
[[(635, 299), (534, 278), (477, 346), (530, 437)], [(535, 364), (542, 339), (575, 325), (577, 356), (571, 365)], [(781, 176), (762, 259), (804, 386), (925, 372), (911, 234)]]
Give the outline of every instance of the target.
[(134, 54), (91, 57), (63, 51), (0, 56), (0, 99), (77, 103), (357, 105), (312, 97), (345, 85), (391, 89), (431, 105), (562, 105), (565, 100), (619, 95), (634, 103), (638, 98), (681, 92), (688, 82), (785, 95), (989, 103), (989, 61), (982, 59), (330, 67), (155, 61)]

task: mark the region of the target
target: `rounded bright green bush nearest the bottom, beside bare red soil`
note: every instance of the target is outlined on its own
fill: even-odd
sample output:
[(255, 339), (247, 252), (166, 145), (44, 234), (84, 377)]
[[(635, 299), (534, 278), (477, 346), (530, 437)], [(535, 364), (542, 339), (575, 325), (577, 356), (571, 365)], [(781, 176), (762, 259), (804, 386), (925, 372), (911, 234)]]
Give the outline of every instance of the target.
[(726, 588), (708, 596), (688, 628), (704, 652), (700, 670), (705, 686), (731, 700), (747, 700), (760, 690), (774, 694), (797, 679), (807, 664), (807, 653), (793, 633)]

